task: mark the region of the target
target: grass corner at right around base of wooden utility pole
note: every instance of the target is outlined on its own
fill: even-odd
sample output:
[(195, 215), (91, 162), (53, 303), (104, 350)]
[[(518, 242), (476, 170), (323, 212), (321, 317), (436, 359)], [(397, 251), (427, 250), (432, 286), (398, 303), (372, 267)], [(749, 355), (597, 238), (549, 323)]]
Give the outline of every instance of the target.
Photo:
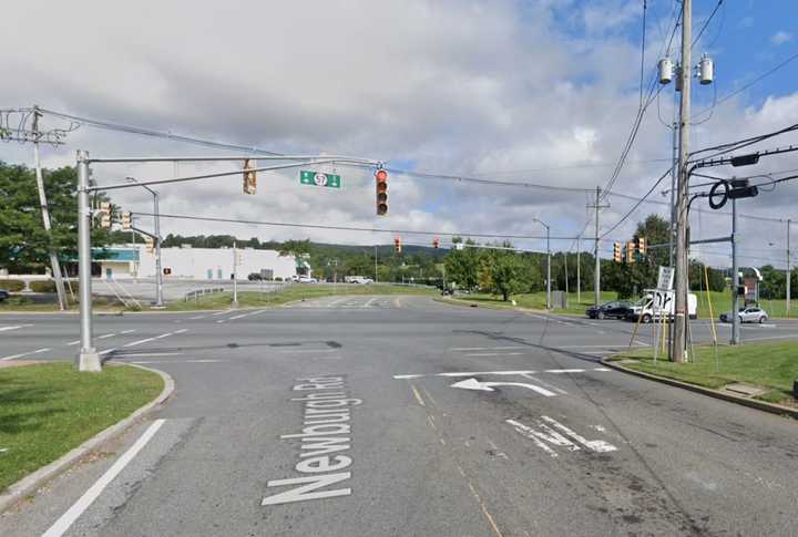
[(718, 389), (734, 382), (755, 384), (767, 390), (759, 396), (771, 403), (795, 404), (792, 382), (798, 380), (798, 342), (744, 343), (729, 347), (696, 347), (695, 360), (686, 363), (659, 359), (654, 362), (651, 348), (613, 357), (627, 359), (625, 368), (667, 376), (699, 386)]

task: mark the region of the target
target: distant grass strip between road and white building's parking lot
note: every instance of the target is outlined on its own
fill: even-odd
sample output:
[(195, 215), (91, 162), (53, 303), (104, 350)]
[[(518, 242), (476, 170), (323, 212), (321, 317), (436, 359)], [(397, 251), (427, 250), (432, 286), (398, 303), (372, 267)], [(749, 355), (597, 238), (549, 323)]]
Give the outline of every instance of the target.
[[(260, 308), (268, 306), (280, 306), (296, 300), (309, 300), (323, 297), (345, 297), (345, 296), (370, 296), (370, 295), (438, 295), (434, 288), (413, 287), (413, 286), (391, 286), (389, 283), (381, 285), (340, 285), (334, 286), (328, 283), (295, 283), (286, 287), (280, 291), (259, 292), (259, 291), (242, 291), (238, 293), (239, 308)], [(231, 307), (233, 300), (232, 292), (222, 292), (217, 295), (206, 295), (197, 300), (174, 301), (167, 307), (167, 311), (186, 311), (186, 310), (214, 310)]]

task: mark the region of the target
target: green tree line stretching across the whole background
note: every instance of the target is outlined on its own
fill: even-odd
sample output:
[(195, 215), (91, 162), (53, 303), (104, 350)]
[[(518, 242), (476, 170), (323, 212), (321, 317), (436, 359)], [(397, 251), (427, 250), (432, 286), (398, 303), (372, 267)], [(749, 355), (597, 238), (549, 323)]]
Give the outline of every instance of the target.
[[(0, 268), (9, 272), (42, 273), (49, 267), (48, 251), (53, 248), (62, 262), (73, 265), (78, 246), (76, 185), (73, 167), (43, 171), (44, 188), (52, 220), (52, 236), (44, 233), (34, 171), (0, 162)], [(98, 207), (111, 202), (103, 193), (92, 198)], [(112, 211), (119, 208), (112, 203)], [(649, 246), (666, 245), (668, 223), (657, 215), (637, 225), (634, 236), (643, 236)], [(628, 238), (630, 240), (633, 237)], [(542, 291), (545, 288), (546, 256), (543, 252), (515, 252), (511, 242), (478, 245), (471, 239), (456, 238), (463, 249), (437, 249), (431, 246), (403, 245), (396, 252), (393, 245), (351, 246), (311, 242), (310, 240), (260, 240), (258, 237), (237, 239), (233, 235), (168, 234), (164, 247), (190, 245), (194, 248), (232, 247), (277, 250), (284, 256), (299, 257), (310, 265), (314, 275), (324, 280), (342, 280), (345, 276), (365, 276), (378, 281), (413, 281), (442, 286), (446, 280), (460, 289), (482, 290), (509, 299), (512, 295)], [(129, 244), (132, 231), (106, 231), (95, 225), (95, 247)], [(590, 240), (585, 240), (590, 244)], [(376, 260), (376, 262), (375, 262)], [(593, 289), (594, 257), (585, 251), (552, 254), (552, 289), (575, 291), (576, 265), (581, 290)], [(627, 265), (602, 259), (602, 289), (616, 291), (620, 298), (632, 298), (656, 286), (657, 270), (668, 265), (668, 248), (648, 248), (645, 256)], [(72, 267), (74, 268), (74, 267)], [(786, 291), (784, 270), (770, 265), (761, 267), (760, 297), (782, 298)], [(690, 289), (728, 289), (728, 271), (705, 267), (697, 260), (689, 264)], [(798, 272), (791, 273), (791, 295), (798, 298)]]

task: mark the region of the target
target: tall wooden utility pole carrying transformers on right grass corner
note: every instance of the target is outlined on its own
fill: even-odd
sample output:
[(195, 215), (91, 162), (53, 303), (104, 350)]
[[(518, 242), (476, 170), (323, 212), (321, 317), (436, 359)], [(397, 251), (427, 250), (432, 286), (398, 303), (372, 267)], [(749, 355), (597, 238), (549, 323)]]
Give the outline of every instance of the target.
[[(674, 318), (674, 348), (672, 360), (683, 362), (687, 342), (687, 189), (689, 176), (687, 158), (689, 157), (689, 115), (690, 115), (690, 82), (693, 75), (693, 61), (690, 59), (693, 27), (693, 0), (682, 1), (682, 69), (678, 76), (682, 80), (682, 96), (679, 105), (679, 176), (676, 199), (676, 312)], [(734, 235), (734, 231), (733, 231)], [(735, 267), (734, 279), (737, 279)], [(735, 293), (737, 289), (735, 289)], [(736, 295), (735, 295), (736, 296)], [(735, 299), (736, 304), (736, 299)], [(737, 310), (734, 311), (735, 318)]]

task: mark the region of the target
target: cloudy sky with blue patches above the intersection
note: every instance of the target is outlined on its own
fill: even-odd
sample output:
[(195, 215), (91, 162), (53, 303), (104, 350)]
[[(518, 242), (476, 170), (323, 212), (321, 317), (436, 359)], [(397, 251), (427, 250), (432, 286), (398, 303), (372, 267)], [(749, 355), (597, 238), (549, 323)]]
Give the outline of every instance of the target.
[[(643, 25), (643, 6), (645, 27)], [(694, 0), (694, 37), (718, 0)], [(161, 211), (272, 223), (379, 228), (387, 231), (497, 234), (543, 250), (544, 221), (555, 250), (592, 248), (586, 205), (606, 187), (641, 102), (641, 51), (647, 94), (668, 52), (675, 0), (11, 2), (0, 109), (41, 105), (92, 120), (146, 127), (277, 153), (351, 155), (391, 169), (389, 215), (377, 217), (374, 168), (318, 165), (341, 188), (299, 184), (299, 168), (258, 174), (242, 194), (241, 176), (162, 185)], [(715, 62), (715, 83), (694, 80), (690, 147), (700, 148), (798, 123), (798, 60), (746, 85), (798, 53), (792, 0), (725, 0), (693, 47)], [(678, 59), (681, 29), (669, 47)], [(12, 81), (12, 83), (9, 83)], [(674, 85), (659, 89), (601, 211), (601, 252), (630, 240), (651, 213), (667, 214)], [(741, 90), (741, 91), (739, 91)], [(732, 95), (729, 99), (726, 99)], [(66, 127), (52, 115), (42, 127)], [(95, 128), (83, 124), (43, 162), (92, 157), (234, 155), (243, 152)], [(754, 148), (798, 144), (795, 133)], [(32, 147), (0, 143), (0, 159), (32, 165)], [(756, 168), (713, 168), (718, 176), (798, 169), (795, 154)], [(260, 165), (265, 161), (260, 161)], [(100, 185), (241, 168), (215, 164), (96, 164)], [(456, 177), (511, 183), (479, 184)], [(761, 179), (758, 179), (761, 180)], [(535, 185), (535, 186), (532, 186)], [(552, 188), (554, 187), (554, 188)], [(115, 190), (134, 214), (151, 209), (141, 188)], [(655, 203), (649, 203), (655, 202)], [(786, 264), (788, 218), (798, 220), (798, 182), (741, 200), (743, 265)], [(728, 235), (730, 217), (694, 204), (694, 238)], [(724, 213), (724, 214), (722, 214)], [(618, 221), (621, 221), (618, 224)], [(141, 217), (142, 226), (151, 223)], [(616, 226), (617, 224), (617, 226)], [(162, 219), (162, 231), (233, 234), (260, 240), (310, 238), (388, 244), (393, 233), (303, 229)], [(796, 231), (796, 228), (792, 229)], [(402, 233), (406, 244), (431, 244)], [(560, 238), (562, 237), (562, 239)], [(441, 235), (442, 244), (448, 237)], [(795, 240), (794, 240), (795, 244)], [(795, 248), (798, 249), (798, 248)], [(713, 266), (729, 265), (726, 244), (694, 247)], [(798, 259), (794, 256), (794, 262)]]

